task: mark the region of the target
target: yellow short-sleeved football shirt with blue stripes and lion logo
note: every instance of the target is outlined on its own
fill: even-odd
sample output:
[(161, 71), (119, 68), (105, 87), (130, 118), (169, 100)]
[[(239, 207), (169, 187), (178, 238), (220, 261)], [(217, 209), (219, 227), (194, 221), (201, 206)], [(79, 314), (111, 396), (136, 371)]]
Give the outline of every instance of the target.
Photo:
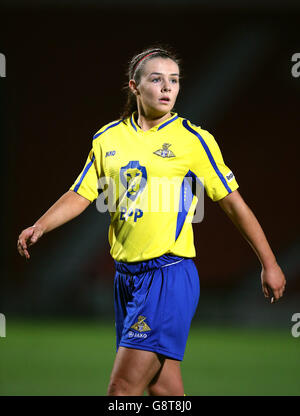
[(206, 130), (172, 113), (143, 131), (134, 116), (95, 134), (70, 189), (97, 200), (99, 211), (108, 206), (115, 260), (144, 261), (166, 253), (194, 257), (192, 220), (199, 195), (193, 184), (202, 184), (218, 201), (238, 188), (236, 179)]

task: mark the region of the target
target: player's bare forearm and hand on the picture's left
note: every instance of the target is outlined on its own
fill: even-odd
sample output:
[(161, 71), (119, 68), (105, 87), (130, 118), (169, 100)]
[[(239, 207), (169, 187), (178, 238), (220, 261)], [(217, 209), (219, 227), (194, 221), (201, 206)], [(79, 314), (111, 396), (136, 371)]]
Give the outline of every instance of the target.
[(42, 235), (65, 224), (81, 214), (91, 201), (74, 191), (63, 194), (35, 224), (21, 232), (18, 238), (18, 251), (21, 256), (30, 258), (28, 248)]

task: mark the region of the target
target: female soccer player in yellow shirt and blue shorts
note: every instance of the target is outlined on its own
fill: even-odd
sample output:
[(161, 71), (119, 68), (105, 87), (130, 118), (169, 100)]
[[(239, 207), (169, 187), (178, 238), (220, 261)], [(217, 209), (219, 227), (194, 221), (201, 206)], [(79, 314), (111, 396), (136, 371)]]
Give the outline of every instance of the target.
[[(42, 235), (98, 197), (104, 177), (113, 181), (109, 242), (116, 265), (117, 354), (108, 395), (142, 395), (146, 389), (150, 395), (184, 394), (180, 361), (200, 293), (192, 260), (197, 197), (186, 179), (204, 185), (251, 245), (261, 262), (265, 297), (273, 303), (285, 289), (281, 268), (215, 139), (172, 112), (179, 79), (179, 62), (170, 51), (134, 56), (125, 113), (95, 134), (73, 186), (18, 238), (19, 253), (29, 259), (28, 248)], [(179, 191), (163, 202), (174, 200), (176, 209), (162, 209), (165, 194), (150, 185), (173, 178), (179, 178)]]

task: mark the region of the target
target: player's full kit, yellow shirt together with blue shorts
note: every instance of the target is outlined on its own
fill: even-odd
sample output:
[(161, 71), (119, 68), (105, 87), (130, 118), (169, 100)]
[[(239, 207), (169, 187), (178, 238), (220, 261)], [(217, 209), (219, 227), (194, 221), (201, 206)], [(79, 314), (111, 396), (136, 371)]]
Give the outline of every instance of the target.
[(213, 201), (238, 184), (209, 132), (176, 113), (143, 131), (135, 115), (94, 135), (70, 189), (91, 202), (112, 190), (105, 196), (113, 199), (108, 207), (117, 348), (182, 360), (200, 294), (192, 260), (197, 195), (186, 179), (201, 183)]

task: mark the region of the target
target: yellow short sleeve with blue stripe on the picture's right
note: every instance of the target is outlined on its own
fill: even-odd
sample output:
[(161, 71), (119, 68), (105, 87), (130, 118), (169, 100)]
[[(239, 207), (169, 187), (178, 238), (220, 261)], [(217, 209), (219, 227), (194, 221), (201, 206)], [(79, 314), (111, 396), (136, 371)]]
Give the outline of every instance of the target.
[(235, 191), (239, 185), (231, 169), (226, 166), (215, 138), (206, 130), (197, 130), (200, 150), (198, 153), (197, 174), (204, 179), (207, 195), (219, 201)]

